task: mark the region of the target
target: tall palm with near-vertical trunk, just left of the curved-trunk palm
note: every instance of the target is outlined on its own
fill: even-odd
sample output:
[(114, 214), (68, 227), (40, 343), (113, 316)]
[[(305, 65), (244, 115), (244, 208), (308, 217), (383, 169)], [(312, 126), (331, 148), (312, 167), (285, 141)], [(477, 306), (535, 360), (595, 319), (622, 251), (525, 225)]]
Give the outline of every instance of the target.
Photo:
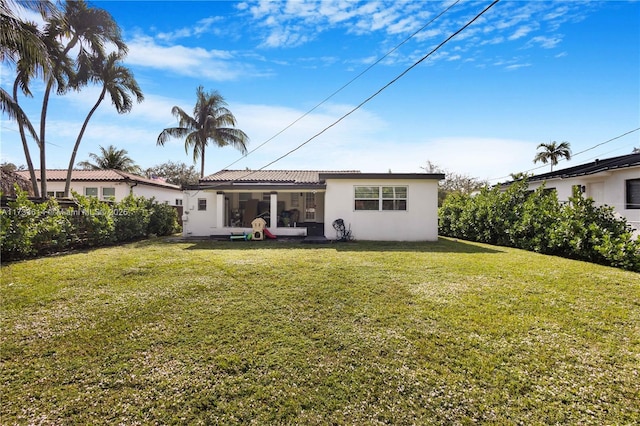
[[(47, 193), (47, 168), (46, 168), (46, 121), (49, 96), (54, 86), (58, 93), (64, 93), (67, 89), (65, 79), (73, 78), (73, 73), (66, 69), (65, 64), (69, 60), (71, 49), (78, 47), (76, 63), (87, 63), (87, 56), (104, 57), (106, 43), (114, 44), (119, 51), (126, 52), (126, 45), (122, 41), (120, 27), (111, 15), (102, 9), (88, 7), (84, 0), (67, 1), (61, 14), (53, 14), (47, 20), (45, 27), (45, 41), (54, 45), (53, 41), (68, 39), (66, 45), (58, 45), (57, 49), (50, 51), (50, 56), (56, 58), (52, 74), (47, 78), (47, 84), (42, 100), (40, 112), (40, 184), (41, 194)], [(64, 72), (63, 72), (64, 71)]]

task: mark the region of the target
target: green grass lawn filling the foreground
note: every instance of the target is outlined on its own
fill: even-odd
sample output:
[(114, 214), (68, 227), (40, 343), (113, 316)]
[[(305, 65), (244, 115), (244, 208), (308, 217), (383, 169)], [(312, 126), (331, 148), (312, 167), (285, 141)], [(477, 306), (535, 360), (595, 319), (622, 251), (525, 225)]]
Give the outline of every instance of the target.
[(0, 423), (640, 422), (640, 275), (438, 243), (4, 265)]

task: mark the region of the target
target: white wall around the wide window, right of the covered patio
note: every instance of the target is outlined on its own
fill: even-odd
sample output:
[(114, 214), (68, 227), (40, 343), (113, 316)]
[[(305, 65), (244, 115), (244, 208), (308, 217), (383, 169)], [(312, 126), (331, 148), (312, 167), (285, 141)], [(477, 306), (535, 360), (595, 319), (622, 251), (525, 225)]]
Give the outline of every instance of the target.
[[(438, 181), (433, 179), (327, 179), (324, 233), (336, 238), (333, 221), (351, 226), (356, 240), (437, 241)], [(355, 210), (356, 186), (406, 186), (406, 211)]]

